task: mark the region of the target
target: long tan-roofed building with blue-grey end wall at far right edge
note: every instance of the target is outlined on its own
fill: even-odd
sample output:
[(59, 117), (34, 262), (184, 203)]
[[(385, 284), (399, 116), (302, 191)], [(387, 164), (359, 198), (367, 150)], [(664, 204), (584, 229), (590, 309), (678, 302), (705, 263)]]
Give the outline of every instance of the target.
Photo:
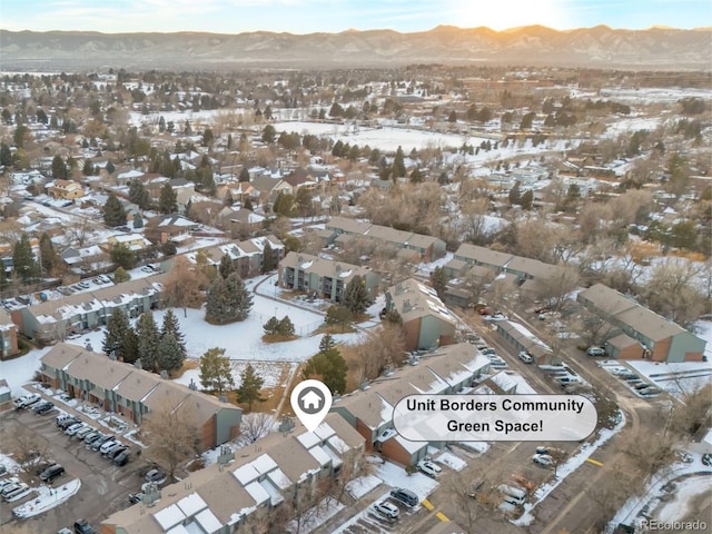
[[(612, 357), (668, 363), (702, 360), (704, 339), (615, 289), (596, 284), (576, 298), (613, 327), (607, 334), (611, 343), (606, 345), (612, 350)], [(639, 346), (621, 338), (621, 334), (635, 339)]]

